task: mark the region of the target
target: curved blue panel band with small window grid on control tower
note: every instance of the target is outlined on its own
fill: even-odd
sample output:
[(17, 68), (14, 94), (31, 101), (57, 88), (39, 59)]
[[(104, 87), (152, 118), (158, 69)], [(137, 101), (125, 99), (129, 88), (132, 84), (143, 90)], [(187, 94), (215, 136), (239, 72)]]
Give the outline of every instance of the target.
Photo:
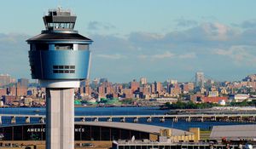
[(29, 51), (29, 61), (34, 79), (84, 79), (88, 74), (90, 51)]

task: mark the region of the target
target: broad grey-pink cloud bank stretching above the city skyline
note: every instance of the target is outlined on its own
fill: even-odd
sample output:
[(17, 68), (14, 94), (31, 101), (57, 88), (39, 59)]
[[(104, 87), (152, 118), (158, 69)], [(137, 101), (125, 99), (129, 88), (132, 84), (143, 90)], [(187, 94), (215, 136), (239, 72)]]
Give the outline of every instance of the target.
[[(186, 22), (183, 23), (185, 26)], [(193, 21), (187, 23), (193, 24)], [(104, 28), (105, 25), (94, 21), (90, 22), (89, 27), (93, 31), (102, 31), (108, 29)], [(131, 32), (123, 36), (90, 33), (88, 37), (94, 40), (90, 45), (92, 76), (103, 74), (102, 77), (115, 80), (124, 75), (131, 77), (128, 73), (134, 72), (132, 77), (159, 75), (164, 78), (166, 76), (161, 75), (166, 74), (177, 75), (173, 77), (179, 79), (191, 78), (196, 70), (221, 72), (230, 76), (234, 72), (242, 76), (241, 70), (255, 72), (256, 28), (239, 27), (214, 20), (166, 33)], [(0, 67), (1, 73), (30, 78), (27, 60), (29, 46), (25, 42), (28, 37), (32, 36), (0, 33), (0, 62), (4, 64)], [(170, 66), (176, 71), (166, 69)]]

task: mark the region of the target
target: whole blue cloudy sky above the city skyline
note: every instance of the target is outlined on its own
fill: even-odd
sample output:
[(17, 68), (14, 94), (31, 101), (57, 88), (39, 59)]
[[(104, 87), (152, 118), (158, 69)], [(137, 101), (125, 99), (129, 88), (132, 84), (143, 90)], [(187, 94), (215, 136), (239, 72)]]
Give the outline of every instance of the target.
[(0, 5), (0, 73), (31, 78), (26, 39), (61, 6), (77, 15), (75, 30), (91, 38), (90, 79), (115, 83), (215, 81), (256, 73), (255, 0), (9, 0)]

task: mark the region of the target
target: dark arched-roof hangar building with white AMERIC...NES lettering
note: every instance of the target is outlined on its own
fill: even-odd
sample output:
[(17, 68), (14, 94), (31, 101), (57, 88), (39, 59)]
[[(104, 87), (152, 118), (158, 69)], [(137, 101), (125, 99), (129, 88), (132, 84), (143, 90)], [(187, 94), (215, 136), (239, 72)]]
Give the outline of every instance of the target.
[[(166, 127), (117, 122), (76, 122), (74, 127), (75, 140), (158, 140), (161, 129)], [(45, 140), (44, 123), (13, 124), (0, 127), (2, 140)], [(194, 139), (187, 131), (172, 129), (172, 136), (178, 140)], [(179, 139), (178, 139), (179, 138)]]

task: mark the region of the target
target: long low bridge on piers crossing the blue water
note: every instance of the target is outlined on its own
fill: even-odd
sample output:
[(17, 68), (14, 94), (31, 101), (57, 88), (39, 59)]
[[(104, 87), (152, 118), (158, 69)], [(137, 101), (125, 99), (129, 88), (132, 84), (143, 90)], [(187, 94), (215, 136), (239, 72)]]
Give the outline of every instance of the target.
[[(3, 117), (9, 117), (10, 123), (16, 123), (17, 117), (25, 118), (25, 123), (30, 123), (31, 118), (38, 118), (39, 123), (44, 123), (45, 115), (26, 115), (26, 114), (0, 114), (0, 124), (3, 123)], [(134, 123), (138, 123), (140, 119), (145, 118), (146, 122), (150, 123), (153, 119), (164, 123), (166, 119), (171, 119), (172, 122), (247, 122), (256, 123), (256, 114), (177, 114), (177, 115), (111, 115), (111, 116), (75, 116), (76, 121), (108, 121), (112, 122), (113, 118), (119, 119), (125, 123), (126, 120), (132, 119)]]

